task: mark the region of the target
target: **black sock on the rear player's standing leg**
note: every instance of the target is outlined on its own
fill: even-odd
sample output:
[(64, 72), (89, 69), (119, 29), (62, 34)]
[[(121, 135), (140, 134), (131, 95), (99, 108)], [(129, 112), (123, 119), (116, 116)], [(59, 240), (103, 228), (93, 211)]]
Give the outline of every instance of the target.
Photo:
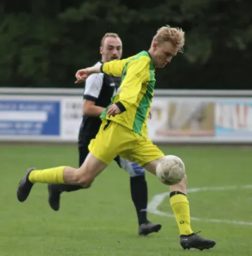
[(148, 190), (145, 175), (130, 177), (131, 197), (138, 214), (139, 225), (148, 222), (147, 220), (147, 204)]

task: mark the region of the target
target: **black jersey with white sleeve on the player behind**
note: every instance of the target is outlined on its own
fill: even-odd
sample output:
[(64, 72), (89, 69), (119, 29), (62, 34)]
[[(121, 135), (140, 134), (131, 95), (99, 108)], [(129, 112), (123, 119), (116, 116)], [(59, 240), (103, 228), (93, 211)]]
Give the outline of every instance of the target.
[[(111, 103), (111, 97), (118, 93), (121, 77), (107, 76), (104, 73), (92, 74), (84, 84), (83, 99), (92, 100), (95, 106), (107, 108)], [(79, 130), (79, 142), (85, 140), (85, 136), (94, 136), (98, 133), (102, 120), (98, 117), (83, 116)]]

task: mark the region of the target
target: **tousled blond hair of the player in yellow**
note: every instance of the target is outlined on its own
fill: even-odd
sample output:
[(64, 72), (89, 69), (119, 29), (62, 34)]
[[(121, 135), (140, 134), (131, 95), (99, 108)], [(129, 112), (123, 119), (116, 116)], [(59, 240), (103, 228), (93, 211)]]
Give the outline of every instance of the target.
[(166, 25), (162, 28), (157, 29), (157, 33), (153, 38), (153, 41), (158, 43), (171, 42), (175, 47), (177, 47), (178, 52), (183, 52), (185, 44), (185, 32), (180, 28), (171, 28)]

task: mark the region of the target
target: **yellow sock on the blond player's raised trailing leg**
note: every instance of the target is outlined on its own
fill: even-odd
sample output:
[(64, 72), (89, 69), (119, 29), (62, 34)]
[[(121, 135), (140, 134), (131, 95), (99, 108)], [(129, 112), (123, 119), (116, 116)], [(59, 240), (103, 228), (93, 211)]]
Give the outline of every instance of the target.
[(34, 170), (29, 174), (29, 181), (32, 183), (65, 184), (63, 170), (66, 166), (59, 166), (45, 170)]

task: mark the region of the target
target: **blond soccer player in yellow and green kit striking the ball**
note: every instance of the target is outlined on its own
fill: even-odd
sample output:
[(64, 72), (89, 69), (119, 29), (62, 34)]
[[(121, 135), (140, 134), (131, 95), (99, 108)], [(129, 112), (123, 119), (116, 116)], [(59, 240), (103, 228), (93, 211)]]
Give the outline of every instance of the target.
[[(94, 140), (90, 154), (80, 168), (59, 166), (45, 170), (28, 169), (20, 180), (17, 198), (24, 202), (37, 182), (77, 184), (84, 188), (91, 183), (117, 155), (143, 166), (156, 174), (156, 167), (164, 154), (148, 138), (147, 119), (154, 95), (155, 68), (163, 68), (181, 52), (184, 31), (164, 26), (158, 29), (149, 51), (142, 51), (124, 60), (109, 61), (95, 67), (79, 70), (76, 83), (94, 73), (104, 72), (110, 76), (122, 76), (120, 92), (102, 113), (103, 120)], [(170, 204), (180, 230), (180, 244), (200, 250), (213, 247), (216, 242), (198, 236), (191, 229), (189, 202), (186, 196), (187, 177), (169, 187)]]

